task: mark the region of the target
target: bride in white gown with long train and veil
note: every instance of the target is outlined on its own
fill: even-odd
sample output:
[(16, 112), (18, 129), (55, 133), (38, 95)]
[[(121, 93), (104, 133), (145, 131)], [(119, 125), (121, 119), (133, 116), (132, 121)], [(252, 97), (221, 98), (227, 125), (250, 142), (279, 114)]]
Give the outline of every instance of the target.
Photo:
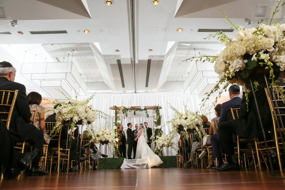
[(149, 148), (147, 144), (148, 134), (143, 124), (140, 124), (140, 129), (135, 139), (137, 140), (136, 164), (147, 163), (149, 167), (153, 167), (163, 163), (159, 156)]

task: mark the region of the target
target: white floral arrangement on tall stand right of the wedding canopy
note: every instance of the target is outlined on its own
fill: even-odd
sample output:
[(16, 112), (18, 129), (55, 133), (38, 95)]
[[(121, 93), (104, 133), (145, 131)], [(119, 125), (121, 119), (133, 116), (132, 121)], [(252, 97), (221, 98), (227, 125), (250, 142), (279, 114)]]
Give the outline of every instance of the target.
[(206, 135), (203, 129), (202, 115), (198, 112), (190, 111), (186, 105), (184, 105), (185, 113), (179, 112), (170, 104), (169, 107), (175, 112), (174, 118), (168, 121), (168, 123), (171, 123), (174, 132), (181, 133), (184, 131), (185, 135), (187, 135), (188, 132), (193, 131), (200, 139), (202, 139), (201, 132), (203, 135)]

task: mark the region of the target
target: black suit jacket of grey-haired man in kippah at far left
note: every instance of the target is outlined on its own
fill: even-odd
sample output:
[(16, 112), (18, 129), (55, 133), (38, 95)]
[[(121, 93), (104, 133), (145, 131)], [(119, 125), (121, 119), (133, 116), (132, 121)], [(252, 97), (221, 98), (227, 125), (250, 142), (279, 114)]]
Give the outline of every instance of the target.
[[(5, 77), (0, 77), (0, 90), (19, 91), (15, 102), (9, 131), (11, 134), (13, 134), (13, 139), (15, 141), (23, 142), (26, 140), (25, 137), (27, 132), (23, 130), (22, 126), (26, 125), (33, 127), (33, 125), (30, 124), (31, 112), (28, 105), (26, 88), (20, 83), (10, 81)], [(2, 98), (2, 92), (0, 92), (0, 97)], [(4, 101), (6, 100), (4, 99)], [(11, 96), (8, 102), (12, 102)], [(0, 107), (0, 112), (9, 112), (8, 107)], [(0, 119), (6, 119), (6, 115), (0, 115)]]

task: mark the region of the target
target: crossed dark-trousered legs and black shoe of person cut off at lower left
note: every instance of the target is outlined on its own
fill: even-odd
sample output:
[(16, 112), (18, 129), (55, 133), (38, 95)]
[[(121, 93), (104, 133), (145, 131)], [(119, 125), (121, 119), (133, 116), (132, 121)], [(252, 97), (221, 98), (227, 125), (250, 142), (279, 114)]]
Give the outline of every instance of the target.
[(3, 121), (0, 120), (0, 164), (6, 168), (8, 178), (12, 179), (21, 174), (31, 164), (38, 153), (34, 148), (29, 153), (16, 152), (12, 137)]

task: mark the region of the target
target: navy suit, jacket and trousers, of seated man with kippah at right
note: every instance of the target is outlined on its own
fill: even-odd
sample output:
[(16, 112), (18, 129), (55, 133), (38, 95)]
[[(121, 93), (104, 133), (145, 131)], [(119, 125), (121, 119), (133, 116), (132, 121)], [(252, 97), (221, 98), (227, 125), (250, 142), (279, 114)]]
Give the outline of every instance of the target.
[[(218, 122), (218, 126), (220, 126), (222, 122), (232, 120), (233, 118), (232, 118), (231, 108), (238, 108), (240, 107), (240, 104), (241, 104), (241, 98), (239, 96), (235, 96), (231, 100), (224, 102), (221, 107), (221, 115)], [(215, 158), (219, 158), (221, 156), (219, 133), (216, 133), (211, 136), (211, 144), (213, 147), (212, 156)]]

